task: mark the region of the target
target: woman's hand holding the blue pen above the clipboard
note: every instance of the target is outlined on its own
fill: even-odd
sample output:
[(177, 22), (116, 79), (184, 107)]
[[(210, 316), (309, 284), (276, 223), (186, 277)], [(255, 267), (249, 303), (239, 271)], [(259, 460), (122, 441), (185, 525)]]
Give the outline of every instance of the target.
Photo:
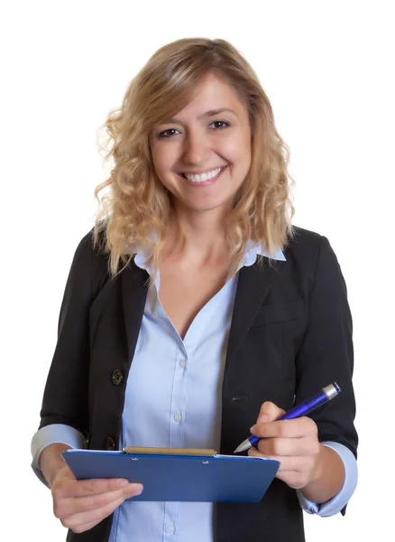
[(317, 437), (317, 425), (309, 417), (275, 421), (284, 414), (270, 401), (263, 403), (253, 435), (263, 437), (258, 449), (250, 448), (248, 455), (267, 457), (280, 462), (276, 478), (299, 490), (317, 480), (320, 470), (322, 444)]

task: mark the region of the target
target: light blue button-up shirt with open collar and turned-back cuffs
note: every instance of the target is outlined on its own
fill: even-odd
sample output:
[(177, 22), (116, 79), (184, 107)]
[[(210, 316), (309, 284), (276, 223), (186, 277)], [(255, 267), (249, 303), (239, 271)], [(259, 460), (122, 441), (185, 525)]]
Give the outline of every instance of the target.
[[(261, 248), (250, 243), (242, 266), (252, 266)], [(146, 255), (135, 256), (137, 266)], [(285, 260), (282, 252), (274, 259)], [(142, 317), (130, 378), (127, 379), (120, 445), (219, 450), (222, 379), (238, 274), (201, 309), (182, 340), (161, 306), (160, 275), (150, 289)], [(247, 428), (248, 429), (248, 428)], [(67, 425), (49, 425), (32, 439), (32, 467), (38, 469), (42, 450), (60, 442), (84, 447), (83, 435)], [(331, 516), (354, 493), (357, 481), (353, 453), (342, 444), (333, 448), (344, 462), (344, 486), (332, 500), (317, 505), (300, 491), (299, 502), (309, 513)], [(115, 510), (110, 542), (212, 542), (213, 504), (208, 502), (144, 502), (126, 500)]]

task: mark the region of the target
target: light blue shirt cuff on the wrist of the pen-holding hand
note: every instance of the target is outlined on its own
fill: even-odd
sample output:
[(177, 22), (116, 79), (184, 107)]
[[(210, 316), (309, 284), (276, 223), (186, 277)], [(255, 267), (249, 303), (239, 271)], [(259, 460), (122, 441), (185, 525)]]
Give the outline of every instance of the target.
[(317, 504), (308, 500), (300, 490), (297, 490), (299, 504), (308, 514), (318, 514), (322, 518), (334, 516), (351, 499), (358, 481), (358, 468), (354, 453), (352, 453), (344, 444), (325, 442), (321, 443), (327, 448), (332, 448), (336, 453), (340, 455), (344, 464), (344, 484), (342, 489), (336, 493), (335, 497), (331, 500), (327, 500), (322, 504)]

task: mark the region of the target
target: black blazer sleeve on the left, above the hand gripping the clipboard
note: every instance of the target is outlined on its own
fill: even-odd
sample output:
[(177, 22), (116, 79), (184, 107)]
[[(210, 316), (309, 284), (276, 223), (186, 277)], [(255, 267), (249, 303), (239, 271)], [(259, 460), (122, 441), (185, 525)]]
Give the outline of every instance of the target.
[[(40, 428), (65, 424), (87, 437), (89, 377), (89, 308), (106, 276), (106, 264), (94, 253), (89, 232), (78, 245), (67, 280), (51, 362), (41, 406)], [(101, 263), (101, 265), (100, 265)]]

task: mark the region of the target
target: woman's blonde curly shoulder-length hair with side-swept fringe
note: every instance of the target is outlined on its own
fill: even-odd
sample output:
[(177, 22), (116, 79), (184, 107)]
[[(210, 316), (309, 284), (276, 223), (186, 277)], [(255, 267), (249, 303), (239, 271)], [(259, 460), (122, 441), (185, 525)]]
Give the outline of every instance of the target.
[(153, 126), (188, 105), (208, 73), (235, 89), (248, 110), (252, 133), (251, 167), (234, 195), (225, 224), (229, 276), (237, 271), (249, 240), (262, 244), (272, 256), (292, 236), (289, 148), (274, 126), (271, 103), (257, 75), (225, 40), (181, 39), (152, 55), (130, 83), (122, 106), (110, 112), (103, 126), (108, 135), (105, 159), (111, 158), (115, 165), (109, 178), (96, 187), (95, 244), (109, 254), (113, 276), (133, 258), (136, 245), (152, 254), (156, 276), (172, 196), (155, 173), (149, 134)]

